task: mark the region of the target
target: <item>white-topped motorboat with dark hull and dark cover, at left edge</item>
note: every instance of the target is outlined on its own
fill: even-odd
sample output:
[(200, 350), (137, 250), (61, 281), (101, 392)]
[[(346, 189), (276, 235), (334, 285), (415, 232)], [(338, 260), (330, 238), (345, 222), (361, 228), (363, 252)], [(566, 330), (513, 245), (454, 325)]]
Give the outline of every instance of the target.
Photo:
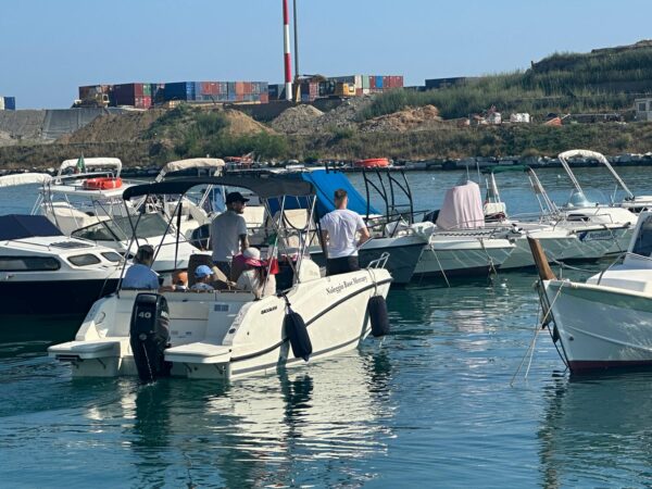
[(0, 216), (0, 315), (86, 314), (124, 267), (115, 251), (67, 238), (45, 216)]

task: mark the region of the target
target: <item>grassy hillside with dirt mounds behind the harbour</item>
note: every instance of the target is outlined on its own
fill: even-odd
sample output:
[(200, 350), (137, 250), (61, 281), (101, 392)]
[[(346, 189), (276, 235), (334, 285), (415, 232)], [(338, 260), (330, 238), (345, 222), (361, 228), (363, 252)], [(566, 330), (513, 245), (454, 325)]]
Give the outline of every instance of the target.
[[(630, 122), (634, 99), (643, 95), (652, 95), (650, 40), (589, 53), (554, 53), (524, 72), (473, 78), (429, 91), (397, 89), (330, 106), (322, 104), (322, 110), (303, 104), (285, 105), (285, 112), (280, 105), (261, 106), (267, 112), (267, 118), (261, 120), (268, 124), (236, 109), (213, 105), (181, 104), (123, 114), (103, 111), (99, 116), (89, 112), (89, 117), (96, 117), (92, 122), (46, 149), (39, 139), (45, 122), (28, 125), (30, 120), (8, 120), (7, 127), (0, 126), (0, 139), (11, 147), (0, 147), (0, 170), (55, 166), (80, 153), (116, 155), (127, 165), (250, 152), (261, 160), (555, 155), (578, 147), (609, 154), (643, 153), (652, 150), (652, 125), (577, 123), (599, 121), (581, 117), (595, 113), (617, 113)], [(527, 112), (534, 123), (468, 125), (469, 114), (492, 106), (505, 118), (512, 112)], [(255, 106), (242, 109), (256, 114)], [(274, 111), (267, 109), (279, 109), (280, 115), (276, 112), (275, 118), (269, 117)], [(573, 114), (565, 123), (576, 123), (543, 126), (550, 113)], [(65, 114), (55, 115), (62, 118)], [(43, 116), (43, 121), (52, 121), (52, 116)], [(34, 138), (10, 135), (9, 128), (16, 127)]]

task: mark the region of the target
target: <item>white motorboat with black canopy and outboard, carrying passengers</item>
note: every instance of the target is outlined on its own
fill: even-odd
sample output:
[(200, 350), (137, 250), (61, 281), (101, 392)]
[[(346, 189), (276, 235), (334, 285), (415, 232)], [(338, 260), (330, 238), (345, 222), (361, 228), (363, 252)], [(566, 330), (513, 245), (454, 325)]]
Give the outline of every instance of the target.
[[(311, 202), (309, 222), (315, 209), (311, 184), (275, 178), (181, 178), (131, 187), (124, 198), (183, 198), (198, 185), (249, 189), (264, 200), (269, 215), (275, 215), (269, 202), (280, 202), (283, 210), (288, 196)], [(275, 223), (276, 236), (284, 236), (283, 217)], [(278, 255), (279, 261), (285, 256), (292, 273), (291, 286), (275, 296), (255, 300), (253, 293), (241, 290), (120, 290), (93, 304), (75, 341), (50, 347), (49, 354), (71, 362), (74, 376), (139, 375), (153, 380), (171, 372), (224, 379), (354, 349), (372, 329), (375, 335), (384, 334), (391, 276), (381, 262), (321, 277), (306, 252), (310, 229), (303, 229), (299, 239), (296, 254), (284, 254), (278, 249), (280, 239), (266, 250), (267, 256)]]

